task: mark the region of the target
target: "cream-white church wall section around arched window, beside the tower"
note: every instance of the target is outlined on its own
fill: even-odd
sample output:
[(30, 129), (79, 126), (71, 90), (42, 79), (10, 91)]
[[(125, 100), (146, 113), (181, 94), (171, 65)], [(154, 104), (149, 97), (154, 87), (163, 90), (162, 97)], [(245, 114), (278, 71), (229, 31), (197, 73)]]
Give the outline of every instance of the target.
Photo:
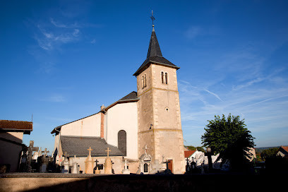
[(126, 157), (135, 160), (138, 160), (137, 114), (137, 102), (116, 104), (107, 110), (104, 125), (107, 127), (107, 136), (105, 133), (104, 138), (107, 138), (107, 143), (116, 147), (118, 147), (118, 132), (126, 131)]

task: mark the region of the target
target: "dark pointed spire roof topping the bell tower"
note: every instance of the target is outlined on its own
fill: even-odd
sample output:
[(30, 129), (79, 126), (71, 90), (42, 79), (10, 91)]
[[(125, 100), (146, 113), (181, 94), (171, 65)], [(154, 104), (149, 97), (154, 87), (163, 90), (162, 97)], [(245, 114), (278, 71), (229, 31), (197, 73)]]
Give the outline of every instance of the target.
[(159, 64), (162, 66), (169, 66), (172, 68), (179, 69), (178, 66), (175, 66), (170, 61), (165, 59), (162, 56), (162, 52), (160, 49), (160, 45), (158, 43), (156, 32), (155, 30), (152, 30), (149, 48), (148, 48), (148, 54), (147, 59), (143, 62), (143, 64), (138, 68), (138, 70), (133, 74), (133, 76), (138, 76), (142, 71), (144, 71), (150, 64)]

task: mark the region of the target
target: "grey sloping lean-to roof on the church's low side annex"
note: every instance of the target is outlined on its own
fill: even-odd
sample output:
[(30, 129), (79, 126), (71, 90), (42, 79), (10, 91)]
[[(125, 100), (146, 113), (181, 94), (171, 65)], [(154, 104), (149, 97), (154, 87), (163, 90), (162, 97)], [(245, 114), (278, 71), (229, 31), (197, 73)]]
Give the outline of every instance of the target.
[(104, 138), (98, 137), (79, 137), (79, 136), (61, 136), (62, 152), (67, 152), (71, 157), (87, 156), (88, 148), (92, 148), (92, 156), (107, 156), (107, 148), (111, 150), (109, 156), (123, 156), (123, 153), (113, 145), (106, 143)]

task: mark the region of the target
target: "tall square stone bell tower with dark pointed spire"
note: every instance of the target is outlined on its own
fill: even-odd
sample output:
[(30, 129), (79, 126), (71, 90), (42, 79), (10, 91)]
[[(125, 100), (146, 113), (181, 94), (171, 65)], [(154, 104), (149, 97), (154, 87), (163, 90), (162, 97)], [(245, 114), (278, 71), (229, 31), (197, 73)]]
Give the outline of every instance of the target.
[(147, 145), (152, 162), (169, 160), (171, 171), (183, 174), (185, 160), (176, 76), (178, 69), (178, 66), (162, 56), (152, 25), (147, 58), (133, 74), (137, 78), (137, 94), (140, 98), (138, 154), (144, 154), (143, 147)]

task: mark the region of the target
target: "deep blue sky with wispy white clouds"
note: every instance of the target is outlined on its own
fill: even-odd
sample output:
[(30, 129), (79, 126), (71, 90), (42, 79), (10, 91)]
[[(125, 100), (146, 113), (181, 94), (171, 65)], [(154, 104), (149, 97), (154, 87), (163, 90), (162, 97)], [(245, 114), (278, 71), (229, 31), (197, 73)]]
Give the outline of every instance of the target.
[(245, 119), (256, 147), (288, 145), (288, 1), (1, 1), (0, 119), (30, 121), (23, 142), (136, 90), (154, 12), (178, 72), (185, 145), (208, 119)]

